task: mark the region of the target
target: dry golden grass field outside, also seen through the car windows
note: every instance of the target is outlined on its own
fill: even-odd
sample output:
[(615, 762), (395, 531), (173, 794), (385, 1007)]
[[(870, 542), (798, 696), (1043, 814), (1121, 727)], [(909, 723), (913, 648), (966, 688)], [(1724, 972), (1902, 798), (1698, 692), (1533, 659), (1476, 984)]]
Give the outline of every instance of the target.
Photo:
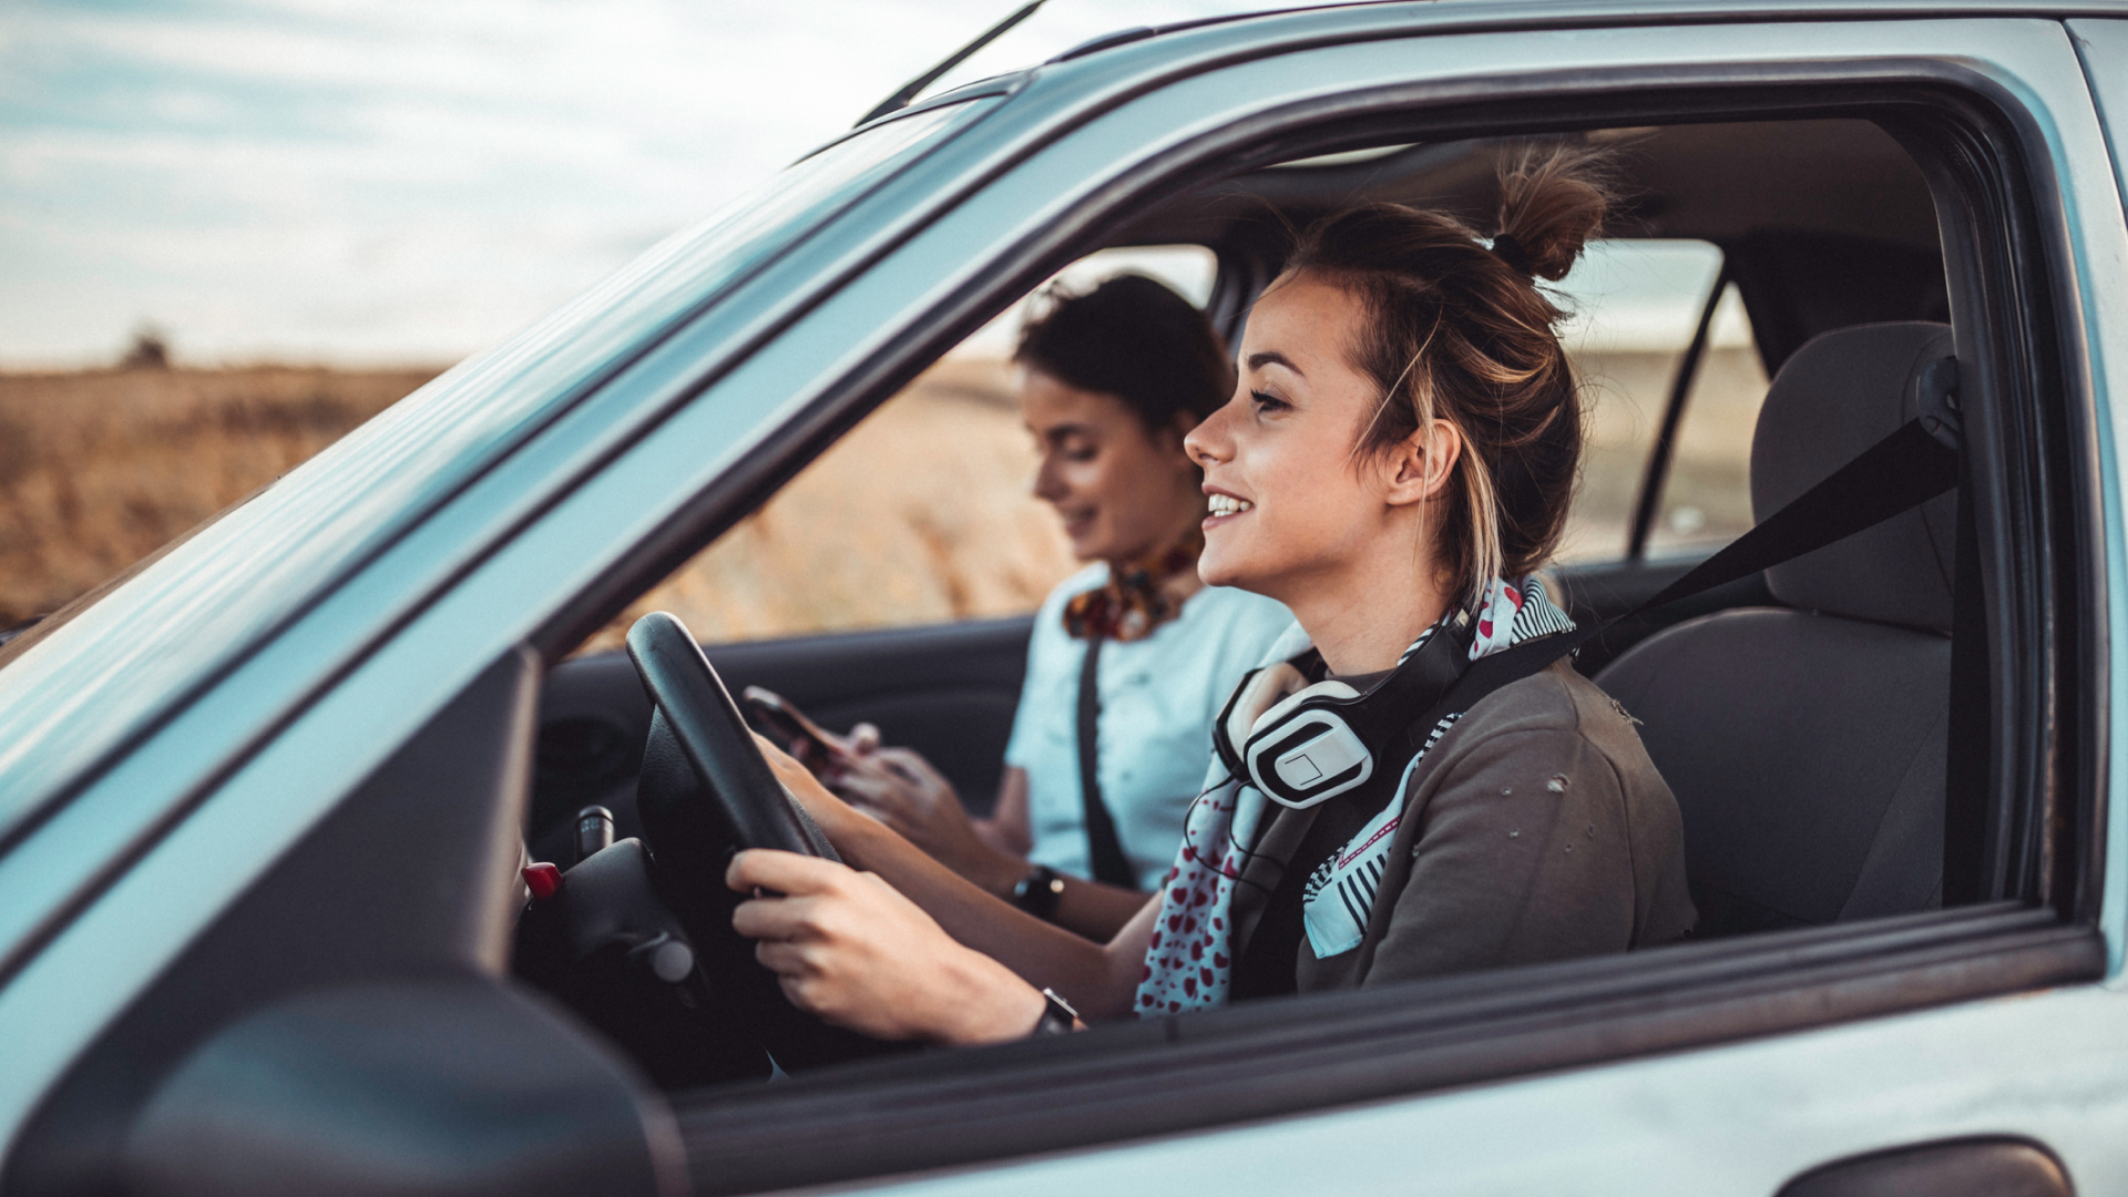
[[(1581, 360), (1590, 458), (1566, 556), (1624, 550), (1666, 354)], [(0, 375), (0, 628), (51, 611), (243, 498), (436, 371)], [(702, 639), (924, 624), (1032, 609), (1073, 569), (1000, 362), (947, 358), (762, 511), (647, 592)], [(1764, 377), (1711, 356), (1656, 545), (1749, 526), (1745, 454)]]

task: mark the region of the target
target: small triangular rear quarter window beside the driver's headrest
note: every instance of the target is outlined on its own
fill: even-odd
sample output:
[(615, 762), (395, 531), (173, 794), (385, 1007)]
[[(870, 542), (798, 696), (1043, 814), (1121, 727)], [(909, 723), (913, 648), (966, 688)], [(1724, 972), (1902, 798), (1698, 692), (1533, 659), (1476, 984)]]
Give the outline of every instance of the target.
[(1685, 394), (1647, 556), (1683, 556), (1751, 530), (1751, 430), (1766, 403), (1766, 366), (1730, 285), (1707, 330), (1707, 356)]

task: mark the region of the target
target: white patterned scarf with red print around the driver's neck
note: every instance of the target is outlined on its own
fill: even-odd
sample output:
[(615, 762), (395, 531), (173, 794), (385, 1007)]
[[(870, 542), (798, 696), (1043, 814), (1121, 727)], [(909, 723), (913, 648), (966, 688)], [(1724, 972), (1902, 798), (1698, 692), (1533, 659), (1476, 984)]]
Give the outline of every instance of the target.
[[(1479, 603), (1470, 660), (1573, 626), (1566, 611), (1551, 605), (1543, 581), (1534, 575), (1524, 577), (1519, 588), (1494, 579), (1485, 586), (1485, 596)], [(1424, 647), (1436, 628), (1441, 624), (1419, 633), (1419, 639), (1404, 650), (1404, 658)], [(1279, 699), (1307, 686), (1307, 679), (1298, 669), (1285, 665), (1262, 669), (1243, 686), (1260, 690), (1256, 694), (1243, 690), (1243, 699), (1236, 703), (1236, 722), (1245, 731)], [(1464, 711), (1453, 711), (1434, 724), (1426, 745), (1404, 765), (1404, 773), (1396, 782), (1396, 799), (1309, 875), (1302, 888), (1302, 922), (1309, 948), (1315, 950), (1317, 958), (1360, 946), (1375, 905), (1375, 886), (1381, 882), (1390, 843), (1396, 839), (1396, 824), (1404, 814), (1402, 792), (1411, 782), (1411, 771), (1462, 716)], [(1228, 735), (1228, 728), (1215, 728), (1213, 735)], [(1219, 758), (1213, 756), (1211, 777), (1183, 820), (1183, 846), (1160, 892), (1160, 920), (1153, 924), (1138, 982), (1136, 1012), (1141, 1016), (1151, 1018), (1226, 1003), (1234, 967), (1232, 920), (1228, 918), (1234, 905), (1234, 884), (1249, 863), (1266, 814), (1275, 809), (1270, 799), (1256, 786), (1228, 775)]]

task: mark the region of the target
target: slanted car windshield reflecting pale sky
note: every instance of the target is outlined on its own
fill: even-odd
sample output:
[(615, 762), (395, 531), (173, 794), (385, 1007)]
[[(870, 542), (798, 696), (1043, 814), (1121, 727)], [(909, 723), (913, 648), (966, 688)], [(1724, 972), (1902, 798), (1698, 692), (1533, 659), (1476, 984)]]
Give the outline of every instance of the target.
[(715, 302), (987, 106), (977, 98), (926, 109), (813, 153), (385, 409), (132, 577), (0, 647), (0, 724), (11, 728), (0, 743), (0, 837), (172, 696), (240, 660), (551, 422), (615, 360)]

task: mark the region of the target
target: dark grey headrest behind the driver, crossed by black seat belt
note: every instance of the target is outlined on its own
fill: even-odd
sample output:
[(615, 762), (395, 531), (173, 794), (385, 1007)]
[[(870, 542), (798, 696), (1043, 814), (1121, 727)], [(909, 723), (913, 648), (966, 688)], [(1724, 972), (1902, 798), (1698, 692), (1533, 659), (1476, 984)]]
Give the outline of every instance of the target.
[[(1766, 520), (1919, 411), (1922, 371), (1951, 356), (1945, 324), (1826, 332), (1781, 366), (1751, 437), (1751, 513)], [(1949, 635), (1958, 494), (1766, 571), (1790, 607)]]

